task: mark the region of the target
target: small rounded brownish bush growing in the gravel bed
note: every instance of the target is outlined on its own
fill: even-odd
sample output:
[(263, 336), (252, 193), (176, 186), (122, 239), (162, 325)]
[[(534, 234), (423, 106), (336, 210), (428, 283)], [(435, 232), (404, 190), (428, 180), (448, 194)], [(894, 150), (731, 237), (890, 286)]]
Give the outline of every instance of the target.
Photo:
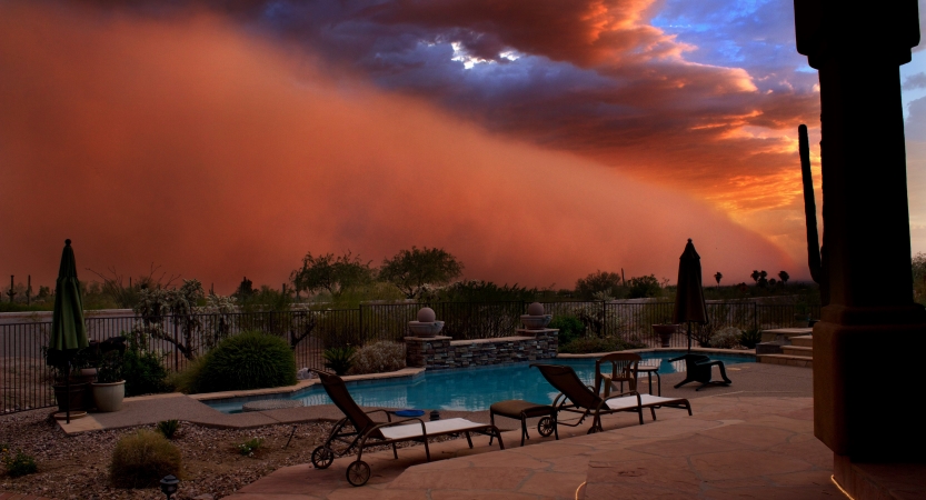
[(168, 474), (181, 476), (180, 450), (163, 436), (139, 430), (116, 443), (109, 480), (117, 488), (152, 488)]

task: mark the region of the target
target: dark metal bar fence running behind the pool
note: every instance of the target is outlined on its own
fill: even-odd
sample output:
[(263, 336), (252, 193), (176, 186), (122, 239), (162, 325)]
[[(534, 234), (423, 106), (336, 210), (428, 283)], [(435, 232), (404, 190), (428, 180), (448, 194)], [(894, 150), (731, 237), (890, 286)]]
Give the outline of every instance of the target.
[[(249, 330), (279, 336), (292, 347), (299, 367), (321, 368), (322, 352), (330, 347), (362, 346), (378, 340), (400, 341), (418, 310), (430, 306), (445, 321), (441, 334), (455, 340), (486, 339), (514, 334), (528, 303), (439, 302), (364, 304), (345, 310), (292, 310), (286, 312), (239, 312), (193, 314), (186, 318), (94, 318), (88, 311), (87, 332), (91, 340), (133, 334), (140, 346), (162, 357), (167, 368), (179, 371), (190, 359), (203, 354), (221, 339)], [(669, 322), (671, 302), (546, 302), (554, 317), (576, 316), (586, 334), (619, 337), (648, 347), (659, 344), (653, 324)], [(757, 304), (753, 302), (708, 303), (710, 323), (696, 327), (696, 338), (709, 338), (718, 328), (741, 330), (801, 326), (801, 318), (819, 318), (819, 306)], [(804, 320), (803, 326), (806, 326)], [(54, 403), (51, 371), (44, 364), (42, 346), (50, 322), (0, 324), (0, 414)], [(132, 333), (135, 332), (135, 333)], [(673, 347), (685, 347), (679, 328)]]

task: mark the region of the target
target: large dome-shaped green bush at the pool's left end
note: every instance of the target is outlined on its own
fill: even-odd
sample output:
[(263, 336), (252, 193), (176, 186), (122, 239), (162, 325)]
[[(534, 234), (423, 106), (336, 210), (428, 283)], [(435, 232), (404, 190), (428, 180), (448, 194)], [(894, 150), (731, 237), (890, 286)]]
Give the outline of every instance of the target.
[(205, 357), (196, 380), (199, 392), (296, 383), (296, 357), (286, 340), (249, 331), (222, 340)]

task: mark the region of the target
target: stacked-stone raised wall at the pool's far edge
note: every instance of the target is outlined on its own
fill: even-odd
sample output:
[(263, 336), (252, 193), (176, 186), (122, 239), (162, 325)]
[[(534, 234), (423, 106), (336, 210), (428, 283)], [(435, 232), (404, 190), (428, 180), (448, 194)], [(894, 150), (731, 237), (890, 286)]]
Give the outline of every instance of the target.
[(439, 370), (556, 358), (559, 330), (518, 330), (518, 333), (524, 334), (478, 340), (406, 337), (406, 364)]

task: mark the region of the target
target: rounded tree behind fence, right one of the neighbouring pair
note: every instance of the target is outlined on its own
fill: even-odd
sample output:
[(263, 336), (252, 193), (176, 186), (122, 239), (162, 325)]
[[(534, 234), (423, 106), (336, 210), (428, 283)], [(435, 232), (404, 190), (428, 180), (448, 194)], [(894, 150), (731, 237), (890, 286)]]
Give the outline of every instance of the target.
[(442, 248), (411, 247), (391, 259), (384, 259), (379, 279), (396, 286), (407, 299), (418, 296), (426, 286), (440, 287), (459, 278), (464, 264)]

